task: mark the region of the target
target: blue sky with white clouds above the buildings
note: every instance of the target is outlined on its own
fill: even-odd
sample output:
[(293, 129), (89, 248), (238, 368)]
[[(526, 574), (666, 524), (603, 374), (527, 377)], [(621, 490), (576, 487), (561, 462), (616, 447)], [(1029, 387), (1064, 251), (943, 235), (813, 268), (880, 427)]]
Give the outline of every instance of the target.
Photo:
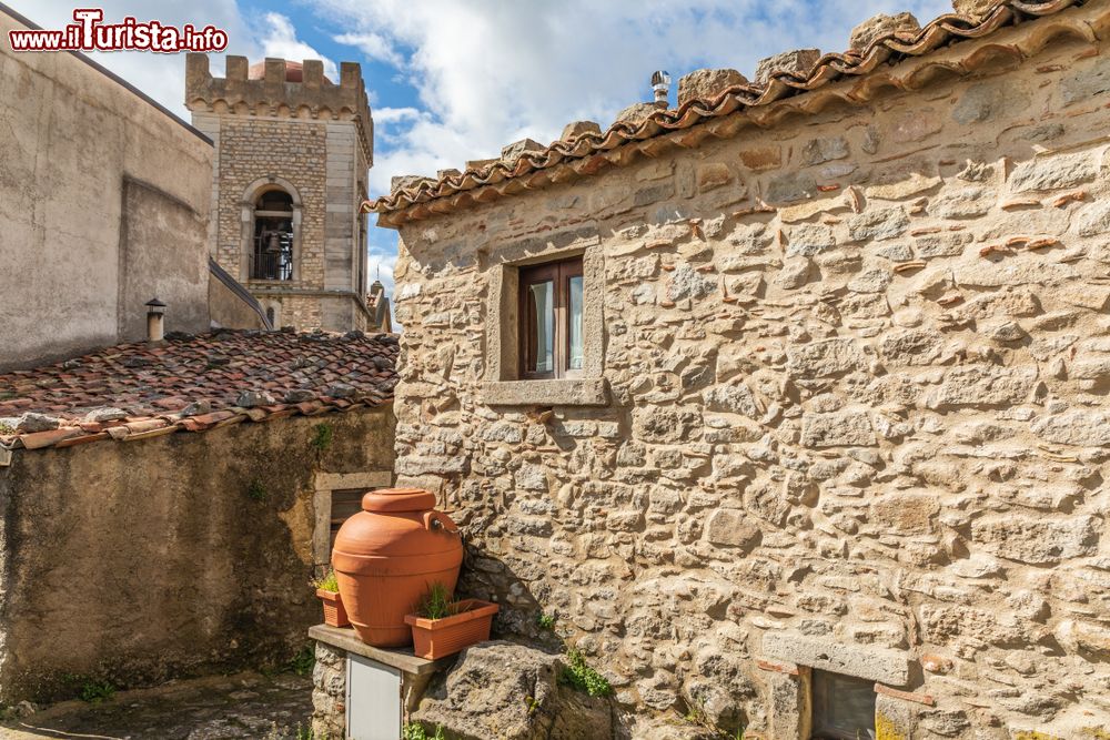
[[(7, 0), (44, 28), (71, 18), (73, 0)], [(79, 3), (80, 4), (80, 3)], [(85, 3), (88, 4), (88, 3)], [(804, 47), (841, 51), (851, 28), (908, 10), (922, 23), (949, 0), (103, 0), (105, 21), (134, 16), (215, 24), (229, 52), (362, 63), (375, 124), (371, 196), (402, 174), (434, 175), (496, 156), (529, 136), (558, 138), (569, 121), (604, 129), (650, 98), (654, 70), (674, 80), (703, 67), (751, 77), (759, 59)], [(159, 102), (189, 118), (184, 59), (98, 54)], [(213, 60), (213, 71), (222, 69)], [(672, 103), (675, 90), (672, 90)], [(396, 234), (371, 229), (370, 265), (392, 287)], [(373, 273), (372, 273), (373, 276)]]

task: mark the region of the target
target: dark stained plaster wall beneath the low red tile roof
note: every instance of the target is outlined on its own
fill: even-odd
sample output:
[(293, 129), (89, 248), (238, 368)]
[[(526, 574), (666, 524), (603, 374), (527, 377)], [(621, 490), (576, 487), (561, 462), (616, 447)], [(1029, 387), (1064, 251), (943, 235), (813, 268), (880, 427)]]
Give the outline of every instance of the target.
[(0, 467), (0, 700), (287, 660), (321, 621), (320, 481), (387, 485), (393, 428), (381, 407), (16, 453)]

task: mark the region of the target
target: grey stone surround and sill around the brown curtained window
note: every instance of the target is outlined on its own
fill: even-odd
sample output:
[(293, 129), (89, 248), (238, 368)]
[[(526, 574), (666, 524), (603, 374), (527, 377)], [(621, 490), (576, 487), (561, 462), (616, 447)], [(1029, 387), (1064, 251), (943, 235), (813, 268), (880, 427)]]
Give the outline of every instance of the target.
[[(486, 304), (485, 379), (481, 402), (488, 406), (606, 406), (605, 383), (605, 261), (601, 239), (566, 241), (547, 236), (546, 247), (528, 254), (536, 240), (505, 245), (502, 261), (491, 265)], [(583, 364), (578, 377), (521, 379), (519, 377), (519, 271), (547, 262), (582, 257)]]

